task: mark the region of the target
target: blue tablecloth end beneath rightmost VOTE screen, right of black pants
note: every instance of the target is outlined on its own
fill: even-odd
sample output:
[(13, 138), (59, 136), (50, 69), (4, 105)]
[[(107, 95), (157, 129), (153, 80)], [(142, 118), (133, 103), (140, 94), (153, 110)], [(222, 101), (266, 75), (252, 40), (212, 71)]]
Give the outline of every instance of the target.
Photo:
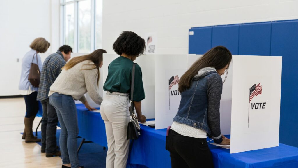
[[(229, 135), (226, 136), (230, 138)], [(209, 144), (215, 167), (220, 168), (294, 168), (298, 167), (298, 148), (279, 143), (279, 146), (230, 154), (224, 149)]]

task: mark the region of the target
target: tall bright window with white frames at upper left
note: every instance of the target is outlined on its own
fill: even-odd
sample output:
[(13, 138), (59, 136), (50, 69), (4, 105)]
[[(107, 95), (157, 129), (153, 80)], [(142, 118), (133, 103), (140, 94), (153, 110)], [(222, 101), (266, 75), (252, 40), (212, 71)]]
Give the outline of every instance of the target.
[[(102, 0), (61, 0), (61, 42), (73, 52), (102, 48)], [(60, 44), (60, 45), (63, 45)]]

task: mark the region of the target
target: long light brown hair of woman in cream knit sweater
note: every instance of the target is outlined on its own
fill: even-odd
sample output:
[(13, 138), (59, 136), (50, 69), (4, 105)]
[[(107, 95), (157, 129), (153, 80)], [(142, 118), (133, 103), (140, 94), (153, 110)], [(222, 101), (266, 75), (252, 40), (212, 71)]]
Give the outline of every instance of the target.
[[(98, 71), (97, 86), (98, 86), (98, 82), (99, 82), (99, 78), (100, 78), (99, 66), (100, 66), (101, 62), (103, 61), (103, 53), (107, 53), (107, 52), (103, 49), (97, 49), (88, 55), (74, 57), (74, 58), (70, 59), (66, 63), (66, 65), (64, 65), (62, 67), (62, 69), (68, 70), (80, 62), (90, 60), (94, 63), (95, 66), (93, 64), (85, 64), (85, 65), (93, 65), (94, 67), (91, 69), (97, 69), (97, 71)], [(85, 69), (85, 70), (91, 70), (91, 69)]]

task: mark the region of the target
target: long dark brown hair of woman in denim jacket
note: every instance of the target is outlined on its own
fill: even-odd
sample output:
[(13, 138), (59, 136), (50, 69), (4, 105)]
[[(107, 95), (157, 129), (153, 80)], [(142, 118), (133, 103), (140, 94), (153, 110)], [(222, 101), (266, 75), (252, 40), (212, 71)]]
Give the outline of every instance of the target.
[(205, 67), (214, 67), (216, 70), (222, 69), (229, 65), (231, 60), (232, 54), (226, 47), (219, 45), (211, 48), (182, 75), (179, 80), (179, 92), (182, 93), (190, 88), (193, 77), (198, 74), (200, 69)]

